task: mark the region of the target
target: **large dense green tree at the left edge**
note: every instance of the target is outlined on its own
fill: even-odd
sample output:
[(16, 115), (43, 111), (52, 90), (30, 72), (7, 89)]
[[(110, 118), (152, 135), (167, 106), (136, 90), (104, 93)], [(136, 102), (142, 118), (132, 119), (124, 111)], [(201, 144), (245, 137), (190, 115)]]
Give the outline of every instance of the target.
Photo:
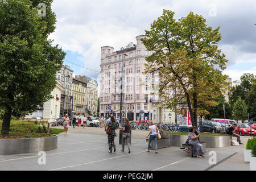
[(52, 0), (46, 16), (39, 16), (39, 1), (0, 1), (0, 109), (4, 110), (2, 135), (9, 134), (11, 115), (36, 110), (51, 98), (56, 72), (65, 52), (52, 46), (48, 35), (55, 30)]

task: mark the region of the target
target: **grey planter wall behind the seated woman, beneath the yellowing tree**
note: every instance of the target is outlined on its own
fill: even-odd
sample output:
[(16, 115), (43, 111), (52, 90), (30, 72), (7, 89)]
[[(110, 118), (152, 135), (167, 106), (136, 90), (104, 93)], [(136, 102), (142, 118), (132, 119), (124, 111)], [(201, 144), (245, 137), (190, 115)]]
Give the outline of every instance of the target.
[[(182, 144), (188, 139), (188, 135), (172, 135), (166, 134), (167, 138), (171, 138), (171, 145), (182, 147)], [(220, 148), (231, 145), (231, 136), (221, 137), (200, 137), (200, 142), (205, 142), (207, 148)]]

